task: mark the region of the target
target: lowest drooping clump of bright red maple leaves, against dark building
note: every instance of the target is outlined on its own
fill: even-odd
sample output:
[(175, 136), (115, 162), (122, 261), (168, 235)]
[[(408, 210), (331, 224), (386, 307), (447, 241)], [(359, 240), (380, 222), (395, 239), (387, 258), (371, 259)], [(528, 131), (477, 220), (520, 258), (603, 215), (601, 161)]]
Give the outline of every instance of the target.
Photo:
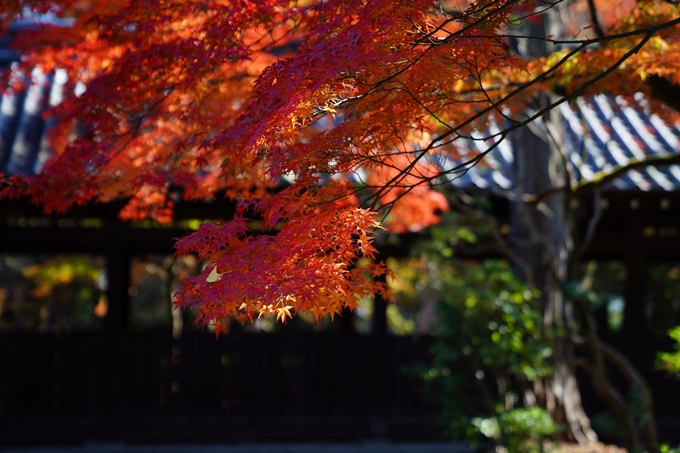
[[(290, 204), (287, 192), (304, 203)], [(237, 212), (230, 222), (204, 224), (179, 239), (179, 253), (196, 253), (210, 264), (204, 274), (184, 282), (177, 304), (197, 307), (199, 322), (209, 324), (267, 314), (285, 321), (299, 310), (318, 320), (356, 309), (357, 297), (390, 297), (385, 283), (372, 280), (389, 273), (384, 264), (352, 266), (359, 256), (375, 257), (371, 236), (379, 225), (374, 214), (353, 207), (314, 207), (317, 200), (292, 187), (263, 202), (241, 205), (241, 210), (250, 206), (262, 215), (266, 228), (281, 222), (274, 235), (249, 234)], [(218, 321), (215, 328), (219, 332), (225, 324)]]

